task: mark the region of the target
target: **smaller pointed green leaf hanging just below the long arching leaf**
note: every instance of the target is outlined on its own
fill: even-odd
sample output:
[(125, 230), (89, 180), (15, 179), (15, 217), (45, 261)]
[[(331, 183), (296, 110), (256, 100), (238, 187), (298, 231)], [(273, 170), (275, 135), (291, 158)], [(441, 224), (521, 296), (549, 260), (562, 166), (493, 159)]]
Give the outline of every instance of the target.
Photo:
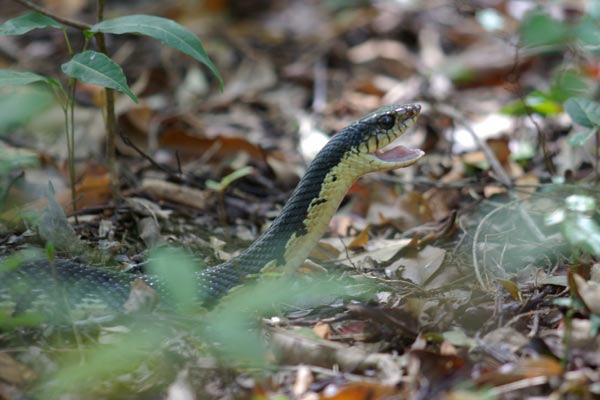
[(92, 85), (104, 86), (125, 93), (134, 102), (135, 94), (127, 86), (121, 67), (113, 60), (97, 51), (87, 50), (76, 54), (71, 61), (62, 65), (62, 71), (71, 78)]

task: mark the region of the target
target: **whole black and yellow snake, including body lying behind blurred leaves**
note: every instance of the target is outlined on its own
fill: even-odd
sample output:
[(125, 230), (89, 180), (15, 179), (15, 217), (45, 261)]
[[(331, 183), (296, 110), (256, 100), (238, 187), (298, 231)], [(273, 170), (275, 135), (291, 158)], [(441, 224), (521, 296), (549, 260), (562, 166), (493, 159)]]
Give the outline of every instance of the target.
[[(424, 156), (396, 145), (417, 120), (418, 104), (384, 106), (333, 135), (308, 166), (280, 214), (237, 257), (194, 272), (194, 301), (214, 304), (233, 288), (266, 270), (301, 265), (325, 233), (346, 192), (362, 175), (407, 167)], [(0, 260), (1, 261), (1, 260)], [(169, 285), (157, 275), (119, 272), (72, 260), (35, 259), (0, 269), (0, 317), (54, 307), (61, 294), (68, 307), (94, 304), (122, 310), (141, 279), (168, 303)]]

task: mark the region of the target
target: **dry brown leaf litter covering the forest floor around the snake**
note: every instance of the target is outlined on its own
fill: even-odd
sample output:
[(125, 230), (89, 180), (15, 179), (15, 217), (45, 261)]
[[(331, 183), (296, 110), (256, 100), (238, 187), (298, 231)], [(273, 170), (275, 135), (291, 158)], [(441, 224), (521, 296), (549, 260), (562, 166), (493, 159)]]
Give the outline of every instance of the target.
[[(65, 10), (67, 2), (58, 3)], [(94, 88), (79, 88), (78, 126), (89, 126), (90, 136), (86, 129), (76, 137), (75, 207), (61, 164), (64, 144), (40, 145), (57, 137), (54, 125), (34, 118), (3, 134), (9, 153), (0, 161), (29, 149), (39, 166), (0, 169), (7, 188), (0, 254), (53, 241), (60, 257), (91, 253), (112, 268), (135, 270), (152, 245), (169, 243), (193, 253), (199, 265), (215, 265), (277, 215), (324, 137), (385, 103), (423, 105), (406, 140), (427, 158), (355, 184), (311, 255), (314, 264), (292, 273), (287, 290), (242, 290), (223, 308), (165, 316), (154, 309), (152, 293), (136, 287), (133, 323), (76, 327), (71, 335), (51, 327), (23, 335), (3, 330), (2, 396), (45, 390), (78, 398), (600, 393), (600, 232), (595, 208), (567, 201), (574, 194), (597, 198), (597, 156), (569, 144), (572, 122), (562, 112), (572, 97), (565, 109), (573, 108), (575, 122), (586, 126), (597, 118), (595, 104), (581, 99), (585, 90), (564, 84), (595, 88), (595, 61), (561, 58), (564, 50), (553, 59), (534, 46), (552, 39), (536, 36), (536, 24), (557, 28), (562, 18), (573, 24), (560, 25), (566, 32), (585, 22), (585, 10), (551, 4), (523, 11), (519, 1), (484, 10), (468, 2), (289, 1), (250, 9), (217, 3), (154, 11), (197, 31), (224, 77), (222, 93), (189, 59), (156, 52), (139, 37), (114, 38), (141, 101), (117, 99), (125, 202), (111, 203), (106, 170), (84, 162), (103, 152), (102, 115), (92, 106), (103, 100)], [(115, 7), (125, 7), (123, 14), (143, 8)], [(73, 18), (87, 12), (73, 10)], [(503, 23), (482, 22), (490, 13)], [(66, 59), (59, 34), (49, 33), (57, 40), (43, 43), (53, 60), (62, 60), (54, 66)], [(24, 49), (12, 67), (33, 63), (51, 75), (52, 63), (35, 57), (43, 38), (10, 40)], [(556, 59), (572, 64), (561, 69)], [(41, 117), (51, 121), (51, 113)], [(593, 136), (584, 133), (577, 142)], [(244, 168), (252, 172), (237, 172)], [(60, 188), (56, 201), (42, 195), (50, 179)], [(32, 229), (39, 215), (41, 229)], [(558, 222), (548, 224), (549, 215)], [(63, 225), (70, 229), (58, 229)], [(72, 240), (58, 240), (64, 237)], [(83, 250), (69, 248), (80, 242)]]

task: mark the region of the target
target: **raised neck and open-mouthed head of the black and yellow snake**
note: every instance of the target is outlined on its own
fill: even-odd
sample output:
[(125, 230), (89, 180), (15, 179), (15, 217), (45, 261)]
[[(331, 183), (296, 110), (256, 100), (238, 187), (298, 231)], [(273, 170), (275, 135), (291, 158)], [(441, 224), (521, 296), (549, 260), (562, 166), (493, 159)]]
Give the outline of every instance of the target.
[(378, 156), (414, 123), (419, 111), (418, 105), (384, 107), (333, 136), (270, 227), (234, 260), (203, 272), (210, 297), (220, 296), (265, 268), (296, 268), (321, 238), (357, 178), (405, 167), (421, 158), (421, 150), (405, 148), (388, 160)]

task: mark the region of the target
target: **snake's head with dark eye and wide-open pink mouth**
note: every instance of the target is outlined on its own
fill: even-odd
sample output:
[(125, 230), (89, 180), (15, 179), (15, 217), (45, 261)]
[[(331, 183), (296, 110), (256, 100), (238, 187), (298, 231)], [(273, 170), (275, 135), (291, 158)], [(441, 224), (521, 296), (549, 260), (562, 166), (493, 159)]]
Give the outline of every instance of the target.
[[(347, 144), (359, 156), (365, 172), (389, 171), (417, 162), (425, 153), (393, 143), (410, 128), (421, 111), (418, 104), (386, 106), (355, 122)], [(355, 161), (357, 162), (357, 161)]]

